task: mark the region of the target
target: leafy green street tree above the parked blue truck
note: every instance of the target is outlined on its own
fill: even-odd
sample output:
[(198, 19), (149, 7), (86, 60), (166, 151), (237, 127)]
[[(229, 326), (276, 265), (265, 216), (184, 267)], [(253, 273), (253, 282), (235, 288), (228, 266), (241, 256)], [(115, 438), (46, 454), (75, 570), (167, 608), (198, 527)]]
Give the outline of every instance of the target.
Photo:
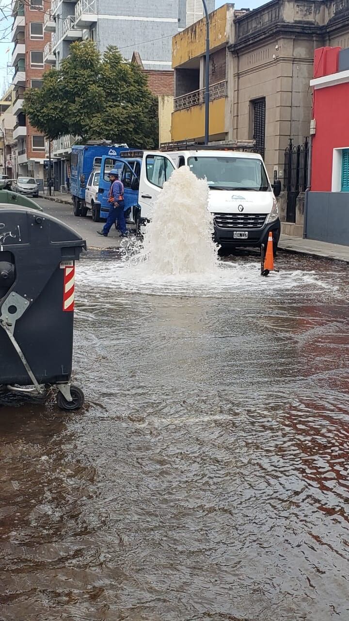
[(51, 140), (72, 134), (81, 143), (158, 143), (158, 104), (147, 78), (116, 47), (101, 57), (93, 42), (72, 43), (61, 68), (46, 71), (42, 88), (27, 89), (24, 101), (30, 124)]

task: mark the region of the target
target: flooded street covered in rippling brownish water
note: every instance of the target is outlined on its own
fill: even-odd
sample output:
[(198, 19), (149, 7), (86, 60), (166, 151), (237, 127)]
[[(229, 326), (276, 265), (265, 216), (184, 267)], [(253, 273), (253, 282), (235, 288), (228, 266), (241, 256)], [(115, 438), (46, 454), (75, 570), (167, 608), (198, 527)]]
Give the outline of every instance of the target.
[(76, 265), (86, 406), (1, 402), (1, 621), (349, 619), (349, 267), (256, 261)]

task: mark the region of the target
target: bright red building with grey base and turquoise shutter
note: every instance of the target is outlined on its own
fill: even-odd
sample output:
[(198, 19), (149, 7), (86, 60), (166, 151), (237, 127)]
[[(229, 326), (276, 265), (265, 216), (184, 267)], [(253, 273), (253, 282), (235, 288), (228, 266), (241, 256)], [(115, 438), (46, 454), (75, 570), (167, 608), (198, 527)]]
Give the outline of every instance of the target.
[(310, 192), (306, 235), (349, 245), (349, 48), (314, 54)]

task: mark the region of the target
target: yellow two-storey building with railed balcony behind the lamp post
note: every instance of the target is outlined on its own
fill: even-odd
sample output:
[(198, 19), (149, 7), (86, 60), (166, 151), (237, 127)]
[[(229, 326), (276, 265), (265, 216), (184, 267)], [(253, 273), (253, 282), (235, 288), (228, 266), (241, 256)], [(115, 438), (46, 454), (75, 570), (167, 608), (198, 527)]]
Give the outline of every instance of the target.
[[(225, 4), (210, 14), (210, 106), (209, 134), (211, 141), (226, 140), (229, 127), (229, 89), (227, 88), (227, 48), (233, 41), (233, 19), (241, 11), (233, 4)], [(172, 40), (174, 69), (174, 111), (171, 120), (171, 138), (177, 140), (204, 140), (205, 123), (205, 54), (206, 20), (186, 28)]]

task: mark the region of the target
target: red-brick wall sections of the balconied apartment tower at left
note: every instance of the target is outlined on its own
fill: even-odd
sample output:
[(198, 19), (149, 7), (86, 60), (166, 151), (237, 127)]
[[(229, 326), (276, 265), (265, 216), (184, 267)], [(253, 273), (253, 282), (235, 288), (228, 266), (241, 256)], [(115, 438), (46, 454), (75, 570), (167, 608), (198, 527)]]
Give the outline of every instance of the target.
[[(43, 48), (46, 43), (51, 40), (50, 33), (43, 33), (43, 40), (41, 39), (30, 39), (30, 23), (42, 23), (44, 20), (45, 11), (50, 9), (51, 2), (50, 0), (43, 0), (43, 10), (42, 11), (32, 11), (29, 7), (29, 2), (25, 2), (25, 87), (30, 88), (32, 79), (41, 79), (43, 74), (42, 68), (34, 68), (30, 63), (30, 52), (43, 52)], [(45, 70), (50, 68), (49, 65), (45, 65)], [(35, 158), (43, 160), (45, 158), (45, 148), (40, 151), (34, 151), (32, 148), (32, 136), (40, 135), (37, 129), (34, 129), (29, 124), (29, 120), (26, 119), (27, 123), (27, 158)]]

